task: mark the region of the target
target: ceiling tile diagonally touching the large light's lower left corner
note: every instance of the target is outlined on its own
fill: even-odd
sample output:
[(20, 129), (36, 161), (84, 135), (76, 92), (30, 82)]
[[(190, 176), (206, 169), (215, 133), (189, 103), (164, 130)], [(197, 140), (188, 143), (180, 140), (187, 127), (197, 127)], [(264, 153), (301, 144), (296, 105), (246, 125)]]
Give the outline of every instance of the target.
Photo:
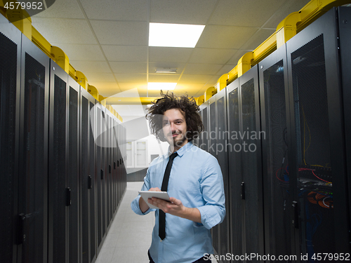
[(102, 46), (102, 50), (109, 61), (147, 61), (147, 46)]

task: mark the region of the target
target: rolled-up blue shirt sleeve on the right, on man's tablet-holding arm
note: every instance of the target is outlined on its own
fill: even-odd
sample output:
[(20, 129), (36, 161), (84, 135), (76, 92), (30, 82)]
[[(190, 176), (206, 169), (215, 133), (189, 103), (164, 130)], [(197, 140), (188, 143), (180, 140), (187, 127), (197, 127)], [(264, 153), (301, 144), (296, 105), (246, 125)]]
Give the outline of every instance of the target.
[(223, 175), (218, 161), (210, 156), (203, 168), (200, 182), (202, 197), (205, 205), (199, 207), (201, 223), (206, 229), (211, 229), (223, 222), (225, 217), (225, 193)]

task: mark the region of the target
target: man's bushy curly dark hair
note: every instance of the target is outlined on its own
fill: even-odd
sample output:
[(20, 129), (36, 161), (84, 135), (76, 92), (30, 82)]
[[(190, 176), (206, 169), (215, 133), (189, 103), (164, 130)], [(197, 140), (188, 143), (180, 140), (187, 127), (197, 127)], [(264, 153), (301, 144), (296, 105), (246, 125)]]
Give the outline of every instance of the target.
[(154, 100), (152, 106), (147, 109), (146, 119), (150, 121), (150, 130), (157, 139), (162, 142), (166, 141), (162, 131), (162, 119), (164, 112), (168, 109), (180, 109), (185, 114), (187, 123), (187, 140), (191, 141), (198, 137), (199, 133), (204, 130), (204, 125), (199, 114), (199, 106), (194, 97), (187, 97), (187, 94), (177, 97), (173, 93), (164, 94), (161, 90), (161, 98)]

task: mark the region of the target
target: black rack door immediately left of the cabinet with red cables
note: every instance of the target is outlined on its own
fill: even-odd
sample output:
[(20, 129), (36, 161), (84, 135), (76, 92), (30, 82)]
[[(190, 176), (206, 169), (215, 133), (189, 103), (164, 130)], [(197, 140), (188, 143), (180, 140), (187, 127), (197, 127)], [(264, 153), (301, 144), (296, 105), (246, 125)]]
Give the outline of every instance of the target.
[(293, 191), (288, 172), (289, 92), (285, 46), (260, 62), (258, 68), (262, 132), (265, 135), (262, 138), (265, 253), (289, 257), (293, 255)]

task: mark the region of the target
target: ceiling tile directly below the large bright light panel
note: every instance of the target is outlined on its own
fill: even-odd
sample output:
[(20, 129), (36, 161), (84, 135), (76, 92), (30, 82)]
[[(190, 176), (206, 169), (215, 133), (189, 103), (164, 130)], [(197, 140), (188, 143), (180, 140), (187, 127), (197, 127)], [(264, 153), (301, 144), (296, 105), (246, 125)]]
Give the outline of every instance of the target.
[(187, 62), (194, 48), (149, 47), (150, 62)]

